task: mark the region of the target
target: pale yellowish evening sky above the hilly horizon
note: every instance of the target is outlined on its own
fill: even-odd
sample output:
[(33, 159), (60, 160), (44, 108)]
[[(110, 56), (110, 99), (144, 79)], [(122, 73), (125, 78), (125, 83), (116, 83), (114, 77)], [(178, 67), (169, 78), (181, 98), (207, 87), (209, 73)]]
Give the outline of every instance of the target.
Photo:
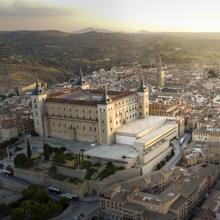
[(0, 0), (0, 30), (220, 32), (219, 0)]

